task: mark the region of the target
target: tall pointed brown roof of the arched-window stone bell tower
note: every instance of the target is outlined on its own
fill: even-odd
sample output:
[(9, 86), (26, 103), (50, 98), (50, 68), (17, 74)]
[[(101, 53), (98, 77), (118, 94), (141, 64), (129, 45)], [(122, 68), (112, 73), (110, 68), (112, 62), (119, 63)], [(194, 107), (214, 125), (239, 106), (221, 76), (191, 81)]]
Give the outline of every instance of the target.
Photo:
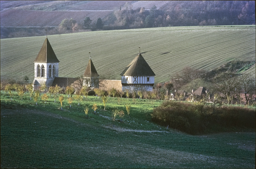
[(40, 63), (59, 62), (47, 38), (45, 39), (43, 46), (40, 49), (37, 55), (37, 58), (35, 58), (34, 62), (40, 62)]

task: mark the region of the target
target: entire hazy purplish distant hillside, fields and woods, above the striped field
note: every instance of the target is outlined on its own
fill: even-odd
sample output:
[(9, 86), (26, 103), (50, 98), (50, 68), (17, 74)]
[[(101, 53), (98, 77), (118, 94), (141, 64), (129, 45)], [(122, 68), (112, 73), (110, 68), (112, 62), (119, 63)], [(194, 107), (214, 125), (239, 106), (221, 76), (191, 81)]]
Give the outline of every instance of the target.
[[(1, 39), (97, 30), (255, 24), (255, 1), (0, 1)], [(89, 17), (91, 23), (84, 25)], [(59, 27), (64, 19), (73, 19)], [(96, 26), (101, 18), (104, 26)], [(73, 22), (72, 22), (73, 23)], [(86, 24), (86, 23), (85, 23)], [(73, 29), (74, 27), (74, 29)], [(61, 28), (61, 29), (60, 29)]]

